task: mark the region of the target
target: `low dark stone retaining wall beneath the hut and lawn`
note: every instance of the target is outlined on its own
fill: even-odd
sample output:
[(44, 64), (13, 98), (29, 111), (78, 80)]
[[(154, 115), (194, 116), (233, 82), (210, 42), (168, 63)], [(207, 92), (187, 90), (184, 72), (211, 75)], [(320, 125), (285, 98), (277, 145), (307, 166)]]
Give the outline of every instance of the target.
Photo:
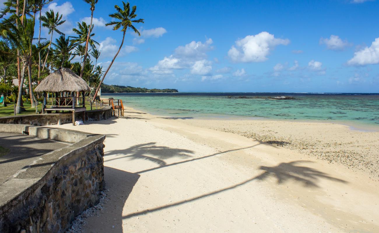
[[(112, 117), (111, 106), (86, 111), (85, 121), (106, 120)], [(83, 113), (75, 113), (75, 119), (83, 120)], [(0, 117), (0, 124), (57, 125), (72, 123), (72, 113), (30, 114), (23, 116)]]

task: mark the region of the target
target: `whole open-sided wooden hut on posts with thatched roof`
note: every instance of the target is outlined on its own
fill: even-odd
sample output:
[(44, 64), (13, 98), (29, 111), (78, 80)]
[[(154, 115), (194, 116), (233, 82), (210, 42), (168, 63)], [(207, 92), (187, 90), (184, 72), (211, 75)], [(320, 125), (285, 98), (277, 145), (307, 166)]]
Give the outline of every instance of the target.
[[(70, 111), (73, 125), (75, 125), (75, 113), (83, 112), (83, 122), (85, 121), (85, 92), (90, 90), (83, 78), (68, 68), (51, 73), (35, 89), (36, 92), (42, 92), (44, 97), (42, 113)], [(47, 106), (46, 92), (53, 93), (51, 106)], [(81, 97), (77, 97), (77, 92), (81, 93)]]

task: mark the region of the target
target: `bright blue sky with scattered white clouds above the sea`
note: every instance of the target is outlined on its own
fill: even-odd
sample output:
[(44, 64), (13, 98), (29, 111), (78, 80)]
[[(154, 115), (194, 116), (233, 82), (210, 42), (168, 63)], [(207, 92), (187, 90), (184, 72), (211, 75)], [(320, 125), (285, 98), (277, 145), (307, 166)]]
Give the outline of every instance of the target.
[[(136, 25), (141, 37), (127, 33), (106, 84), (182, 92), (379, 92), (378, 1), (130, 3), (145, 20)], [(99, 0), (94, 12), (104, 70), (122, 38), (104, 25), (116, 4), (122, 5)], [(47, 9), (63, 14), (67, 36), (90, 16), (80, 0), (55, 0)], [(48, 37), (47, 30), (42, 34)]]

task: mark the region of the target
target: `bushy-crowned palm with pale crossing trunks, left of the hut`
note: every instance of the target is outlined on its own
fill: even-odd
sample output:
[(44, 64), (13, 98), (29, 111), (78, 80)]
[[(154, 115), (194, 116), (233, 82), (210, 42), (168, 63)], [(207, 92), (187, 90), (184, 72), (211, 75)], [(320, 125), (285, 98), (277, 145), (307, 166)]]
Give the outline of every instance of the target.
[[(22, 61), (22, 71), (21, 71), (21, 82), (19, 88), (19, 94), (16, 105), (16, 113), (21, 113), (21, 100), (22, 100), (22, 86), (25, 78), (25, 68), (28, 68), (29, 75), (29, 85), (31, 85), (31, 57), (34, 56), (32, 50), (32, 42), (34, 35), (34, 19), (26, 19), (24, 16), (23, 24), (20, 23), (21, 19), (17, 17), (17, 22), (19, 22), (19, 27), (17, 28), (11, 21), (8, 19), (5, 20), (5, 24), (2, 25), (1, 32), (3, 36), (9, 41), (11, 47), (16, 48), (20, 51), (20, 59)], [(49, 41), (42, 43), (34, 53), (39, 50), (46, 48), (49, 45)], [(31, 89), (31, 102), (33, 101), (33, 89)]]

